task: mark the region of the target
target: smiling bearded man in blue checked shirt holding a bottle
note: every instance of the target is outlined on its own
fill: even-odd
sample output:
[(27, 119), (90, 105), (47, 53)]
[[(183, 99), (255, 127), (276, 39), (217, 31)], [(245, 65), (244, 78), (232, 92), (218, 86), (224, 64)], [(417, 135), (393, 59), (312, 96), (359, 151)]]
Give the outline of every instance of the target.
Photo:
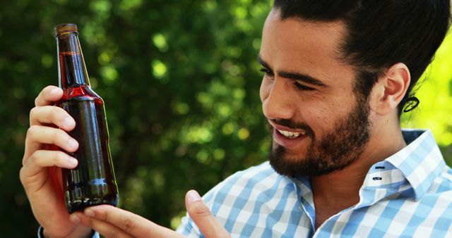
[[(206, 205), (196, 192), (187, 193), (189, 216), (177, 231), (189, 237), (450, 237), (452, 170), (432, 132), (399, 125), (400, 113), (419, 103), (412, 89), (449, 18), (448, 0), (276, 0), (258, 54), (263, 114), (273, 132), (269, 163), (227, 178), (204, 196)], [(47, 87), (37, 97), (30, 113), (37, 126), (30, 127), (20, 171), (44, 235), (90, 236), (91, 227), (107, 237), (177, 237), (112, 206), (66, 213), (46, 180), (47, 167), (75, 165), (42, 150), (43, 144), (76, 149), (64, 143), (66, 132), (42, 126), (73, 128), (70, 119), (64, 124), (64, 111), (46, 106), (61, 94)]]

